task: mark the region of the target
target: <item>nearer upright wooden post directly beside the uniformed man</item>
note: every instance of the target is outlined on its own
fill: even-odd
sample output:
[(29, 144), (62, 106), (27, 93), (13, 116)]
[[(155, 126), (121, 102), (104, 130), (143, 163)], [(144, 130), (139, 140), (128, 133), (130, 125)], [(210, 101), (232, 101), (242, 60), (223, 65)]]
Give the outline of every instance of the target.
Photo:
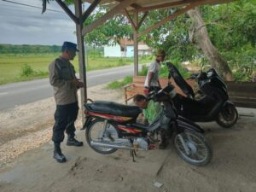
[[(84, 102), (87, 101), (87, 82), (86, 82), (86, 67), (85, 67), (85, 59), (84, 59), (84, 36), (82, 35), (83, 29), (83, 13), (82, 13), (82, 1), (75, 0), (75, 15), (79, 19), (79, 22), (76, 23), (76, 33), (78, 40), (78, 48), (79, 48), (79, 76), (80, 79), (84, 82), (84, 88), (80, 90), (81, 94), (81, 105), (82, 111), (84, 112)], [(84, 125), (84, 113), (82, 113), (82, 120)]]

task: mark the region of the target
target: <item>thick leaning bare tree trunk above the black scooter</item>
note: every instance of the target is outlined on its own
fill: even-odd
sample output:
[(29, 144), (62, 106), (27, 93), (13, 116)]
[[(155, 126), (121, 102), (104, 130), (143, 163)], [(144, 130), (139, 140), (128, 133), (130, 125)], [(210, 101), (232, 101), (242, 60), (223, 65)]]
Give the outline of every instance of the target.
[(191, 42), (196, 44), (196, 46), (203, 51), (212, 67), (217, 70), (222, 78), (226, 81), (233, 80), (227, 61), (224, 61), (222, 56), (218, 53), (218, 50), (212, 45), (208, 36), (205, 21), (201, 17), (200, 9), (196, 8), (189, 10), (188, 15), (193, 20), (191, 27), (192, 33), (190, 32), (189, 34)]

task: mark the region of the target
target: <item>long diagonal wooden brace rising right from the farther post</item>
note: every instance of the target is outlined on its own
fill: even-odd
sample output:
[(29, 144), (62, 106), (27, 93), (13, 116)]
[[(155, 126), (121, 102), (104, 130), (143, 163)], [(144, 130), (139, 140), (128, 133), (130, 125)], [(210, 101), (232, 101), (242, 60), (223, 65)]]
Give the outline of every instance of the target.
[(195, 7), (198, 7), (201, 4), (204, 4), (206, 2), (208, 2), (208, 0), (199, 0), (199, 1), (196, 1), (194, 3), (191, 3), (190, 5), (185, 7), (184, 9), (181, 9), (181, 10), (177, 11), (175, 14), (166, 17), (166, 19), (161, 20), (160, 22), (158, 22), (154, 26), (149, 26), (148, 29), (144, 30), (143, 32), (139, 32), (137, 34), (137, 38), (141, 37), (142, 35), (152, 31), (153, 29), (155, 29), (159, 26), (162, 26), (162, 25), (166, 24), (166, 22), (168, 22), (170, 20), (174, 20), (178, 15), (182, 15), (182, 14), (186, 13), (187, 11), (189, 11), (190, 9), (194, 9)]

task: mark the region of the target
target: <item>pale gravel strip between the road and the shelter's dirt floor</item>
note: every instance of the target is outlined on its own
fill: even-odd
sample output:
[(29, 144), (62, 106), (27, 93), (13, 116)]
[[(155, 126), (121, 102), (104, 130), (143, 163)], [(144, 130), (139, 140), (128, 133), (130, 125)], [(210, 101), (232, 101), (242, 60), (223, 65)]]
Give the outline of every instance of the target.
[[(120, 90), (108, 90), (106, 86), (102, 84), (88, 89), (88, 97), (92, 100), (123, 101)], [(50, 140), (54, 113), (53, 97), (0, 113), (0, 168), (24, 151), (38, 148)], [(79, 110), (78, 129), (82, 127), (81, 116)]]

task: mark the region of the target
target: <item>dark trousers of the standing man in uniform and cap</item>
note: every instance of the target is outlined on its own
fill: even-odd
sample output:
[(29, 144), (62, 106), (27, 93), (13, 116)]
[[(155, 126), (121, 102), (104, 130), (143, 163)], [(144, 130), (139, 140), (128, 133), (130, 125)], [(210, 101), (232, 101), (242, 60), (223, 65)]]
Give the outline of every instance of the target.
[(69, 137), (74, 137), (74, 122), (78, 118), (79, 104), (73, 102), (67, 105), (57, 105), (55, 111), (55, 125), (53, 127), (52, 141), (61, 143), (64, 140), (64, 131)]

